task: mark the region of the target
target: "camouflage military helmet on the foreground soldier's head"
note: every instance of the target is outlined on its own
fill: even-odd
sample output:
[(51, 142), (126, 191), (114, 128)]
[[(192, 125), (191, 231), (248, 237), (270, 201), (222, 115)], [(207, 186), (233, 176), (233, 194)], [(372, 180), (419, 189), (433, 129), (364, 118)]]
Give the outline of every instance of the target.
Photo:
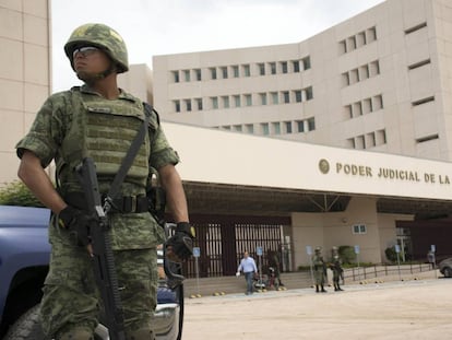
[(115, 30), (104, 24), (84, 24), (72, 32), (64, 52), (73, 68), (73, 51), (83, 45), (95, 46), (106, 52), (117, 65), (117, 72), (129, 71), (129, 59), (126, 43)]

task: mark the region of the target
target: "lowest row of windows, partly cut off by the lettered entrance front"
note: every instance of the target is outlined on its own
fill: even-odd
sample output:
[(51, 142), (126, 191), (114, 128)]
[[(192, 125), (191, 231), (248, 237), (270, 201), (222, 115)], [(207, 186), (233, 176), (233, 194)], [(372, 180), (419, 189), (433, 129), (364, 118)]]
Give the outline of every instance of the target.
[(301, 120), (287, 121), (271, 121), (271, 122), (255, 122), (241, 124), (231, 126), (217, 127), (221, 130), (228, 130), (235, 132), (246, 132), (259, 136), (278, 136), (290, 133), (302, 133), (316, 130), (316, 120), (313, 117)]

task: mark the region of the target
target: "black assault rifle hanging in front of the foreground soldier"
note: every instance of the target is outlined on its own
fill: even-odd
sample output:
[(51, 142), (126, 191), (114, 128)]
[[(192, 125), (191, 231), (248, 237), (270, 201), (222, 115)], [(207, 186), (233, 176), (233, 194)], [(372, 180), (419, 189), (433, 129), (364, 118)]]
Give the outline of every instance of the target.
[(121, 297), (119, 295), (118, 278), (116, 275), (115, 258), (109, 237), (110, 225), (108, 212), (110, 206), (102, 206), (97, 183), (96, 167), (93, 159), (86, 157), (75, 168), (82, 184), (88, 212), (92, 215), (90, 225), (93, 246), (94, 274), (104, 303), (105, 321), (110, 340), (126, 340), (124, 320)]

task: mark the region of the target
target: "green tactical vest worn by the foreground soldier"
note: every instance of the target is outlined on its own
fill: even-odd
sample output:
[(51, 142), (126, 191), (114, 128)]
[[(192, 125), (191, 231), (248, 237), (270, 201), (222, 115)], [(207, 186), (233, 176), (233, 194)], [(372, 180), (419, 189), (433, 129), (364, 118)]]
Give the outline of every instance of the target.
[[(71, 90), (72, 117), (61, 145), (57, 163), (57, 175), (64, 195), (81, 191), (74, 168), (86, 156), (94, 160), (100, 190), (106, 192), (118, 173), (132, 140), (144, 121), (143, 105), (140, 101), (109, 101), (80, 89)], [(151, 127), (157, 122), (151, 120)], [(144, 195), (148, 176), (151, 143), (146, 134), (136, 157), (123, 181), (122, 195)], [(104, 189), (103, 189), (104, 188)]]

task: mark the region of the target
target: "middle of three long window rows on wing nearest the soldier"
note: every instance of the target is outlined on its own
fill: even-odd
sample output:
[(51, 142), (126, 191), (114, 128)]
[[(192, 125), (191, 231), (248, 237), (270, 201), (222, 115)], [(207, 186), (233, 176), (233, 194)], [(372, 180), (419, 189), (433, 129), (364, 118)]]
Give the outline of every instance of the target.
[(312, 86), (301, 90), (262, 92), (212, 96), (209, 98), (186, 98), (173, 101), (176, 113), (203, 109), (235, 108), (255, 105), (301, 103), (313, 98)]

